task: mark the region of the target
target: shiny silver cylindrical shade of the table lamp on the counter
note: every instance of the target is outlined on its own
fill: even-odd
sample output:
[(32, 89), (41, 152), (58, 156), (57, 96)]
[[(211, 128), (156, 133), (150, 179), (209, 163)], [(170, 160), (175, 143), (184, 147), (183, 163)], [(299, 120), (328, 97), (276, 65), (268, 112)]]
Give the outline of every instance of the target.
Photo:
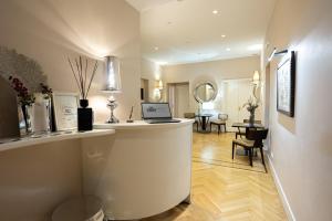
[(120, 92), (121, 76), (120, 76), (120, 61), (116, 56), (105, 56), (106, 60), (106, 84), (104, 91)]

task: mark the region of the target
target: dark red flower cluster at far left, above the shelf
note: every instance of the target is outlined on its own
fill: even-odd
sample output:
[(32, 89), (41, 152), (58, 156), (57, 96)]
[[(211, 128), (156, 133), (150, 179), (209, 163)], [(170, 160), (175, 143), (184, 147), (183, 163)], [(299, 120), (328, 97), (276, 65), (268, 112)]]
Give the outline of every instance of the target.
[(11, 83), (11, 87), (17, 92), (19, 104), (22, 106), (31, 106), (35, 101), (34, 95), (29, 92), (18, 77), (9, 76), (9, 81)]

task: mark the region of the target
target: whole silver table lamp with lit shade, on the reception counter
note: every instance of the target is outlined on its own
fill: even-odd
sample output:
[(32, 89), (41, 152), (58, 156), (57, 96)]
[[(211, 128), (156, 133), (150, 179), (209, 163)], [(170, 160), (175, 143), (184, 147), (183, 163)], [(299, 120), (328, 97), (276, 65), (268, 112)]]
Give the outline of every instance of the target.
[(121, 76), (120, 76), (120, 61), (115, 56), (105, 56), (106, 62), (106, 73), (105, 73), (105, 88), (103, 92), (110, 93), (111, 96), (107, 99), (107, 107), (111, 110), (108, 124), (116, 124), (120, 120), (114, 116), (114, 109), (118, 106), (116, 99), (114, 98), (114, 93), (121, 93)]

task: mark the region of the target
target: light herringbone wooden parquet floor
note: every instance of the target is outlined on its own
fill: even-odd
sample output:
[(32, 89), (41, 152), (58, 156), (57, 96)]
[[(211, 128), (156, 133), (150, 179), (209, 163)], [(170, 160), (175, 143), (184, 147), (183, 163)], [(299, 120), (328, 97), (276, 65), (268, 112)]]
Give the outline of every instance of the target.
[(231, 160), (232, 133), (197, 134), (193, 144), (191, 203), (181, 203), (144, 221), (287, 220), (270, 171), (260, 158)]

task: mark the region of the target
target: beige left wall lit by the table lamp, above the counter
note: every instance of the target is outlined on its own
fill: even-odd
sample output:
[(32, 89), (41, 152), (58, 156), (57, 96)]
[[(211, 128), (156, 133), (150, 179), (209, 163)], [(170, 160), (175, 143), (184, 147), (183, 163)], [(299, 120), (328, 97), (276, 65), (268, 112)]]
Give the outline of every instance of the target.
[[(66, 56), (111, 54), (122, 62), (116, 116), (125, 119), (131, 106), (139, 104), (139, 13), (125, 1), (0, 0), (0, 44), (37, 60), (54, 91), (77, 92)], [(108, 95), (101, 93), (103, 72), (100, 62), (89, 97), (96, 122), (110, 115)]]

